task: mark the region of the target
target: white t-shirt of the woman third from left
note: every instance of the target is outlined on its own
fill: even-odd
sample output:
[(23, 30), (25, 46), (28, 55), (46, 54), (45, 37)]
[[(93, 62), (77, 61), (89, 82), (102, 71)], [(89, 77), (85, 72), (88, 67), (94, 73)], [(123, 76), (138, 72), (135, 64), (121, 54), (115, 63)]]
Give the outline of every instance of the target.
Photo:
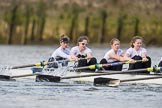
[(114, 62), (114, 61), (117, 61), (117, 60), (110, 58), (109, 54), (116, 54), (118, 56), (121, 56), (122, 53), (123, 53), (122, 49), (118, 49), (117, 53), (115, 53), (115, 51), (113, 49), (111, 49), (104, 55), (104, 58), (107, 60), (107, 62)]

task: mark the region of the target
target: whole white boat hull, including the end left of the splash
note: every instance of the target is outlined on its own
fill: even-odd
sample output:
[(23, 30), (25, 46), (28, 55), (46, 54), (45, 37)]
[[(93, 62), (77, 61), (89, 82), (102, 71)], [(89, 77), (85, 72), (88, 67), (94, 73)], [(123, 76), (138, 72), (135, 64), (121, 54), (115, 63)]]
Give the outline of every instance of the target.
[[(18, 76), (18, 75), (25, 75), (25, 74), (33, 74), (32, 70), (18, 70), (18, 69), (13, 69), (11, 71), (11, 76)], [(45, 74), (45, 73), (44, 73)], [(95, 72), (75, 72), (75, 71), (67, 71), (66, 74), (62, 77), (72, 77), (72, 78), (63, 78), (62, 81), (77, 81), (81, 83), (85, 82), (94, 82), (95, 78), (113, 78), (113, 79), (119, 79), (119, 80), (129, 80), (129, 79), (139, 79), (139, 78), (150, 78), (150, 77), (155, 77), (155, 76), (161, 76), (155, 75), (154, 73), (152, 74), (111, 74), (111, 75), (97, 75), (97, 76), (90, 76), (94, 74), (99, 74)], [(82, 77), (84, 75), (89, 75), (88, 77)], [(77, 78), (73, 78), (73, 76), (77, 76)], [(16, 78), (16, 80), (34, 80), (35, 81), (36, 76), (27, 76), (27, 77), (19, 77)], [(145, 84), (162, 84), (162, 78), (156, 78), (156, 79), (147, 79), (147, 80), (136, 80), (136, 81), (126, 81), (123, 83), (145, 83)]]

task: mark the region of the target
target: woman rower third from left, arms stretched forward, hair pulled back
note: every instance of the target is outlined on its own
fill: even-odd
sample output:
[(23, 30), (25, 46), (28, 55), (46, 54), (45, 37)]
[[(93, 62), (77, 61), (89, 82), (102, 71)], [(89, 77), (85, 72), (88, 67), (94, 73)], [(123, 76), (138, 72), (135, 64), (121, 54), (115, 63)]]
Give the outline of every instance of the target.
[[(126, 61), (128, 59), (124, 58), (124, 52), (120, 49), (120, 41), (117, 38), (113, 38), (110, 41), (111, 49), (106, 52), (103, 59), (100, 61), (100, 64), (115, 63), (119, 61)], [(105, 70), (122, 70), (122, 64), (116, 66), (104, 66)]]

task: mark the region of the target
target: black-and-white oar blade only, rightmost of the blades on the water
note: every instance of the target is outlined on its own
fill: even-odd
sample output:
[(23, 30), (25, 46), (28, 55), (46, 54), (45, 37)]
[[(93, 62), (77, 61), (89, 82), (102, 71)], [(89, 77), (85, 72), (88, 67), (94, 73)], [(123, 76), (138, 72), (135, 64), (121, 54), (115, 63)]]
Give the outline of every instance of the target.
[(94, 85), (95, 86), (110, 86), (110, 87), (115, 87), (120, 84), (119, 79), (113, 79), (113, 78), (103, 78), (103, 77), (98, 77), (94, 79)]

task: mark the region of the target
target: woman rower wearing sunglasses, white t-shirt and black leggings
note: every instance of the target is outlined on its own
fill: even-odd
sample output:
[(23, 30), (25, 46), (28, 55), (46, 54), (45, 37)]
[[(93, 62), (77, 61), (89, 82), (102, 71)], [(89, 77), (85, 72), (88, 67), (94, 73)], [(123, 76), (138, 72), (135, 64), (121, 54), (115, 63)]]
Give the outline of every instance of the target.
[(87, 36), (80, 36), (77, 40), (77, 46), (71, 48), (70, 56), (75, 61), (78, 61), (77, 67), (94, 65), (97, 63), (97, 59), (92, 57), (91, 49), (87, 47), (88, 41), (89, 39)]

